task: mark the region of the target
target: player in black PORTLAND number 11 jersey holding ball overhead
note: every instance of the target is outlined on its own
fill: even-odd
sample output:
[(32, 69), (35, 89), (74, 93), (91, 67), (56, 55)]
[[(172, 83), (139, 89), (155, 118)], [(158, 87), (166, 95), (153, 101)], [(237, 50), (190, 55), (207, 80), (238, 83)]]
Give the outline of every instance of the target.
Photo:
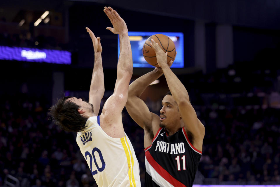
[[(188, 92), (167, 64), (167, 53), (152, 40), (155, 68), (129, 85), (125, 105), (129, 115), (145, 132), (146, 186), (192, 187), (202, 153), (205, 128), (197, 119)], [(139, 98), (146, 87), (164, 73), (171, 93), (162, 100), (160, 116), (149, 111)]]

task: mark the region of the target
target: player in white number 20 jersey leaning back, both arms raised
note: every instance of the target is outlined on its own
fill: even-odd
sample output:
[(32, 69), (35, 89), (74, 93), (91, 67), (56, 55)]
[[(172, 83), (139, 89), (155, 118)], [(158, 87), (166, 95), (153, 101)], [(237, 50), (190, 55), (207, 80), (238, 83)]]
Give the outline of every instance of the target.
[(120, 37), (120, 56), (113, 95), (105, 102), (101, 115), (97, 116), (104, 95), (102, 47), (100, 38), (96, 38), (86, 28), (95, 50), (89, 103), (76, 97), (64, 97), (50, 109), (50, 113), (62, 129), (77, 132), (77, 144), (98, 186), (141, 186), (139, 163), (124, 132), (121, 114), (132, 76), (132, 52), (127, 26), (113, 8), (105, 7), (104, 12), (113, 25), (113, 28), (107, 29)]

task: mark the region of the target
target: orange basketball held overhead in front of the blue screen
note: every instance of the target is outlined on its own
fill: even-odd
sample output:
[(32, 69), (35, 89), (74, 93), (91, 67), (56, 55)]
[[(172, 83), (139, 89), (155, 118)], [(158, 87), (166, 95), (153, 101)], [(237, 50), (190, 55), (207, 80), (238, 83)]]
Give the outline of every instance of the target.
[(150, 45), (151, 39), (153, 39), (155, 43), (158, 43), (158, 45), (161, 47), (164, 53), (167, 52), (167, 62), (169, 62), (170, 60), (174, 60), (175, 53), (176, 53), (174, 42), (164, 34), (155, 34), (153, 36), (148, 37), (148, 39), (145, 41), (143, 45), (143, 51), (142, 51), (145, 60), (150, 65), (159, 67), (159, 65), (157, 64), (157, 56), (155, 54), (155, 51)]

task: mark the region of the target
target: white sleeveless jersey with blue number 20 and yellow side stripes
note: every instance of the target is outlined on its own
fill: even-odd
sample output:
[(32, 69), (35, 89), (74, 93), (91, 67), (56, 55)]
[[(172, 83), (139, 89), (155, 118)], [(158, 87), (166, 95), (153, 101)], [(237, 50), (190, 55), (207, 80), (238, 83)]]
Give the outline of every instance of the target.
[(141, 186), (139, 163), (126, 134), (108, 136), (99, 116), (94, 116), (88, 118), (85, 131), (77, 133), (76, 141), (98, 186)]

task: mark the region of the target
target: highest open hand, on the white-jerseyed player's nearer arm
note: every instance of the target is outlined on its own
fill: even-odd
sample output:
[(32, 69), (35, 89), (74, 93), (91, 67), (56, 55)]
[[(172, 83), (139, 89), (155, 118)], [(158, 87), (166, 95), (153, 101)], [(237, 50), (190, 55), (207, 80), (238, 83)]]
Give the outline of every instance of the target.
[(108, 16), (108, 18), (110, 19), (113, 25), (113, 28), (107, 27), (106, 29), (110, 30), (114, 34), (127, 33), (128, 30), (127, 30), (126, 23), (117, 13), (117, 11), (115, 11), (110, 6), (109, 7), (105, 6), (103, 11), (106, 13), (106, 15)]

